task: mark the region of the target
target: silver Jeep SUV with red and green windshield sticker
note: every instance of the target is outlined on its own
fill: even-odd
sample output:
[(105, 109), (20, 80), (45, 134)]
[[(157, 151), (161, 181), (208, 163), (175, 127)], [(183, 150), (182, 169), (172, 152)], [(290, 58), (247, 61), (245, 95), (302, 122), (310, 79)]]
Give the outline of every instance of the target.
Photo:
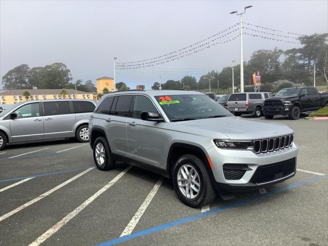
[(191, 207), (295, 175), (298, 148), (282, 124), (235, 117), (193, 91), (121, 91), (103, 96), (89, 122), (100, 170), (117, 160), (173, 180)]

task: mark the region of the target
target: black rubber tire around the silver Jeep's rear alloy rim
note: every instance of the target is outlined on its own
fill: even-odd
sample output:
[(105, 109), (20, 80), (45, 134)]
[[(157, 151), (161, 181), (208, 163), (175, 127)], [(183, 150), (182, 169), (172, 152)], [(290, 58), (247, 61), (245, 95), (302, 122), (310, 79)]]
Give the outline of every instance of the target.
[[(99, 145), (98, 145), (99, 144)], [(97, 160), (96, 157), (96, 152), (97, 152), (97, 147), (103, 146), (104, 148), (104, 162), (101, 164), (101, 162)], [(97, 168), (101, 171), (107, 171), (110, 169), (113, 169), (116, 167), (116, 160), (114, 160), (111, 157), (111, 150), (109, 148), (108, 142), (105, 139), (105, 137), (98, 137), (93, 144), (93, 160)]]

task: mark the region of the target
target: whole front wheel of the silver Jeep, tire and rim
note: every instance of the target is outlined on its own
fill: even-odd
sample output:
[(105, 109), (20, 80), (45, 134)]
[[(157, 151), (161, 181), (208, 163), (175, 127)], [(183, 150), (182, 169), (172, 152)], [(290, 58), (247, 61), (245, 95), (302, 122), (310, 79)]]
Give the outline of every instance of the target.
[(173, 185), (180, 200), (193, 208), (211, 203), (216, 196), (204, 162), (195, 155), (183, 155), (176, 161)]

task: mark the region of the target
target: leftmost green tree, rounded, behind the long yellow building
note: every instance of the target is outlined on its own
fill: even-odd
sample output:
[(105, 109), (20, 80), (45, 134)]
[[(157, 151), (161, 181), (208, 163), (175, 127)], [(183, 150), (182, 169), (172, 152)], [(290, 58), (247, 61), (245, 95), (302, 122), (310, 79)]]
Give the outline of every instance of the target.
[(2, 77), (5, 90), (26, 89), (29, 87), (30, 68), (26, 64), (11, 69)]

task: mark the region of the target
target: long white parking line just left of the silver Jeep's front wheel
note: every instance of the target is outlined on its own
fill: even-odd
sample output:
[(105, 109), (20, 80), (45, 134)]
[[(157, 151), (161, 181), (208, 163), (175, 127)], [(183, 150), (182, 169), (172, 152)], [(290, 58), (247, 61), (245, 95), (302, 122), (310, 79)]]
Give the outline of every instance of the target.
[(133, 229), (135, 228), (135, 226), (137, 225), (139, 219), (141, 218), (141, 216), (145, 213), (147, 207), (149, 206), (149, 203), (152, 201), (152, 199), (154, 198), (154, 196), (156, 195), (160, 185), (163, 182), (163, 178), (160, 177), (157, 182), (155, 183), (155, 186), (153, 187), (153, 189), (149, 192), (148, 196), (146, 197), (145, 201), (142, 202), (140, 208), (138, 209), (138, 211), (135, 213), (135, 215), (132, 217), (132, 219), (130, 220), (130, 222), (128, 223), (128, 226), (124, 229), (124, 231), (122, 232), (122, 234), (120, 235), (120, 237), (125, 236), (125, 235), (129, 235), (132, 233)]

